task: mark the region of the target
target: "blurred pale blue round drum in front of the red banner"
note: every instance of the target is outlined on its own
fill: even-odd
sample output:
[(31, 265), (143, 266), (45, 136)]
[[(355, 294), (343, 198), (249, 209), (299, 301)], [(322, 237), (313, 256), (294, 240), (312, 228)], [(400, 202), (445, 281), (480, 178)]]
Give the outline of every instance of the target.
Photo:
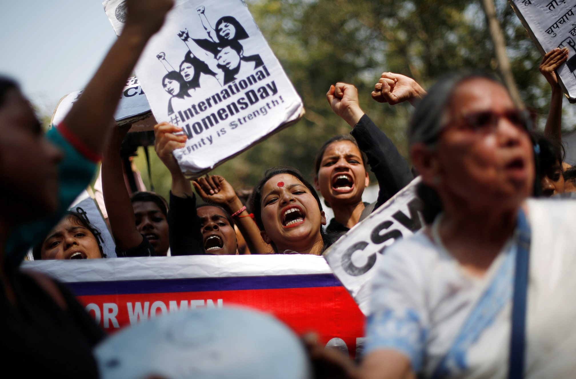
[(206, 308), (165, 314), (96, 347), (103, 379), (310, 378), (304, 345), (268, 314)]

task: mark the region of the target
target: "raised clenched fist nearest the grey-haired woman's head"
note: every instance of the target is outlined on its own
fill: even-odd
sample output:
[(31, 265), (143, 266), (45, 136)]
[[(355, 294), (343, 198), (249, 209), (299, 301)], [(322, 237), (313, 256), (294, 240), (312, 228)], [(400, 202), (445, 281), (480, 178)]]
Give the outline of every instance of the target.
[(379, 103), (396, 105), (404, 101), (412, 102), (426, 94), (426, 91), (412, 78), (402, 74), (382, 73), (374, 85), (372, 98)]

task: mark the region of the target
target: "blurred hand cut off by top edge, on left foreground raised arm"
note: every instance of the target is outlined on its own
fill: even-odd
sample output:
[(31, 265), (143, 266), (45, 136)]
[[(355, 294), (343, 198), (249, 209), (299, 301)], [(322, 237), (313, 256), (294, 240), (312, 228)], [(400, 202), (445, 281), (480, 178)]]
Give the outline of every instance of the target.
[(125, 31), (136, 29), (150, 37), (164, 24), (166, 13), (174, 5), (173, 0), (128, 0)]

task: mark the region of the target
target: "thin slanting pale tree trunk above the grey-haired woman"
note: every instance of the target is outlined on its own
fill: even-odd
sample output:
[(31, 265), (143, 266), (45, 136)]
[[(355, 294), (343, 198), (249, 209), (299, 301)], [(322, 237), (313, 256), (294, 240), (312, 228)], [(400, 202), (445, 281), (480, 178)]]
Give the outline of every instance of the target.
[(494, 0), (482, 0), (484, 5), (484, 13), (486, 13), (486, 23), (488, 24), (488, 30), (490, 31), (490, 36), (492, 37), (492, 43), (494, 43), (494, 52), (496, 53), (496, 60), (498, 62), (498, 69), (502, 75), (504, 84), (510, 92), (510, 97), (516, 104), (516, 107), (523, 109), (524, 104), (522, 104), (522, 99), (520, 98), (520, 91), (516, 86), (516, 81), (514, 81), (514, 75), (510, 69), (510, 60), (506, 54), (506, 41), (504, 39), (504, 33), (500, 27), (500, 22), (496, 17), (496, 10), (494, 7)]

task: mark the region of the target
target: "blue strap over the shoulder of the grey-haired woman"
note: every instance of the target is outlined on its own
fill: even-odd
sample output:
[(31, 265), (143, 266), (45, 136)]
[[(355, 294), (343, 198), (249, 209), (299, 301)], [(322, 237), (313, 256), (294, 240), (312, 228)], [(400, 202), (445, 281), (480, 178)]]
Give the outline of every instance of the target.
[(518, 250), (516, 252), (516, 272), (514, 273), (514, 295), (512, 300), (509, 379), (520, 379), (524, 375), (530, 225), (528, 225), (528, 220), (522, 210), (518, 213), (516, 233)]

